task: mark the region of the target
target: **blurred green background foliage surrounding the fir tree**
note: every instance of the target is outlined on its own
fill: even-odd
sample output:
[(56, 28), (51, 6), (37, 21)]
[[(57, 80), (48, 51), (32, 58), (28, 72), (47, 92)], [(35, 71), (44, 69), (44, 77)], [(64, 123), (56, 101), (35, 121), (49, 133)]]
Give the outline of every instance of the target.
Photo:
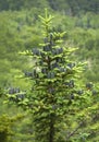
[[(15, 111), (24, 111), (21, 108), (17, 110), (16, 106), (12, 108), (3, 104), (5, 93), (2, 88), (20, 86), (25, 91), (30, 86), (29, 81), (23, 78), (23, 72), (34, 62), (20, 52), (38, 48), (41, 43), (38, 15), (44, 14), (45, 8), (54, 16), (53, 28), (66, 31), (64, 45), (78, 47), (75, 58), (87, 61), (84, 80), (99, 85), (99, 0), (0, 0), (0, 123), (5, 119), (9, 121), (9, 130), (15, 131), (12, 140), (8, 139), (10, 142), (32, 142), (34, 138), (32, 116), (30, 119), (24, 118), (20, 125), (14, 119), (17, 127), (13, 129), (10, 119), (13, 119)], [(3, 115), (7, 116), (3, 118)], [(0, 140), (1, 130), (0, 125)], [(78, 142), (83, 141), (83, 137), (81, 132)], [(99, 137), (96, 135), (95, 140), (91, 138), (91, 142), (94, 141), (98, 142)]]

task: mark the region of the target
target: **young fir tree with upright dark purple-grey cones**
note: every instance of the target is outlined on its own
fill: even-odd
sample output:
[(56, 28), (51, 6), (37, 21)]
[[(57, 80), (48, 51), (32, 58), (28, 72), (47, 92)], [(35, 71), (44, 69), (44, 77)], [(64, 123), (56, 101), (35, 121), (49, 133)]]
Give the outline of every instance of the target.
[(53, 17), (47, 11), (45, 17), (39, 17), (44, 26), (44, 43), (27, 52), (33, 56), (34, 64), (32, 72), (25, 72), (25, 76), (33, 81), (32, 91), (26, 96), (11, 88), (10, 94), (18, 94), (10, 99), (32, 110), (34, 142), (66, 142), (75, 133), (67, 131), (71, 116), (84, 107), (86, 98), (78, 90), (82, 64), (71, 59), (75, 48), (63, 46), (65, 33), (52, 29)]

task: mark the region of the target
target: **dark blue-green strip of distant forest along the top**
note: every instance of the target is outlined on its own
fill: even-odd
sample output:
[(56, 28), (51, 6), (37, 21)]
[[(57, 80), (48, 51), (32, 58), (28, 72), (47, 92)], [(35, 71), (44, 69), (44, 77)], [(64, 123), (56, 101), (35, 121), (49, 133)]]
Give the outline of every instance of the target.
[(22, 10), (32, 8), (51, 8), (69, 15), (78, 15), (91, 11), (99, 13), (98, 0), (1, 0), (0, 11), (2, 10)]

